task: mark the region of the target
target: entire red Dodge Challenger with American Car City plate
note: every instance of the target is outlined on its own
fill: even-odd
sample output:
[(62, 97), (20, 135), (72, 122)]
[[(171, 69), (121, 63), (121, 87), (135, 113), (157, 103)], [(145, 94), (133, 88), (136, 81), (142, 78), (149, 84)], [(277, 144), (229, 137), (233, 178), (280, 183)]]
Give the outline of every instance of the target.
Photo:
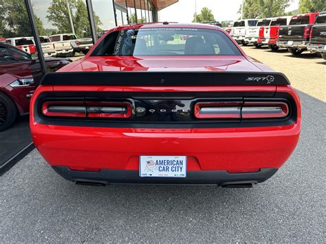
[(47, 74), (30, 127), (45, 160), (77, 184), (251, 187), (294, 151), (301, 105), (283, 74), (221, 28), (151, 23), (116, 27)]

